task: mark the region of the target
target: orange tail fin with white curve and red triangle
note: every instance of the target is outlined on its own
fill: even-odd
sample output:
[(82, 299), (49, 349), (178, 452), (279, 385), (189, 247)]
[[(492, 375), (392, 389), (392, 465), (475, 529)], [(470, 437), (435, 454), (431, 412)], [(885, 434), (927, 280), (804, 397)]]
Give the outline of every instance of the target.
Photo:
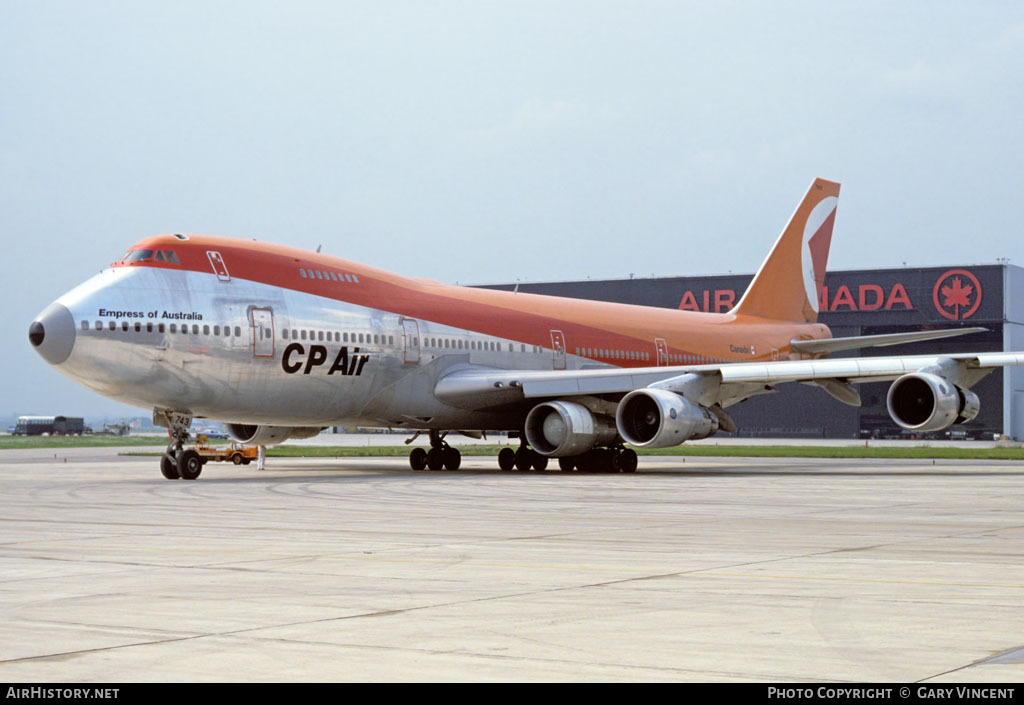
[(776, 321), (818, 320), (839, 183), (814, 179), (807, 196), (731, 313)]

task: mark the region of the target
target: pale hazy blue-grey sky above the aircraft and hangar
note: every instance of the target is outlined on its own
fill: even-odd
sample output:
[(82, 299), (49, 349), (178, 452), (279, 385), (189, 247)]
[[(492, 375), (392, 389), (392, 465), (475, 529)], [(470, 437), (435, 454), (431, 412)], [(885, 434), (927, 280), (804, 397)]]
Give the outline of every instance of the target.
[[(1024, 4), (0, 0), (2, 413), (119, 414), (32, 350), (155, 233), (443, 282), (1024, 264)], [(145, 411), (141, 411), (143, 415)]]

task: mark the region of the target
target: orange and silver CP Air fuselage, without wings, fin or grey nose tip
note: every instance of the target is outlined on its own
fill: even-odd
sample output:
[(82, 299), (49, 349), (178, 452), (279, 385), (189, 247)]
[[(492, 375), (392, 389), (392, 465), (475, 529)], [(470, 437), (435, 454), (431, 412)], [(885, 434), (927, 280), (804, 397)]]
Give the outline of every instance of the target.
[[(73, 326), (57, 369), (101, 395), (196, 417), (297, 426), (518, 429), (528, 405), (454, 407), (435, 398), (437, 380), (460, 367), (788, 359), (797, 357), (791, 339), (828, 336), (816, 323), (455, 287), (206, 236), (144, 240), (54, 307), (67, 309)], [(58, 318), (68, 319), (44, 312), (40, 320), (67, 325)]]

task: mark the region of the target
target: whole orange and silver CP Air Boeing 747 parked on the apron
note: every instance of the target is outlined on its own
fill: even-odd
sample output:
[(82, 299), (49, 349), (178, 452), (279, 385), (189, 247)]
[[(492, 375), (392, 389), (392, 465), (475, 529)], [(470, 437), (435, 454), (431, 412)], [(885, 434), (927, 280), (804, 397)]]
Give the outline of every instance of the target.
[(275, 444), (331, 425), (428, 431), (414, 469), (458, 469), (449, 431), (513, 431), (502, 469), (633, 471), (637, 448), (735, 430), (727, 409), (782, 382), (859, 405), (892, 380), (903, 428), (974, 418), (971, 386), (1024, 352), (827, 360), (961, 335), (833, 338), (817, 322), (840, 186), (817, 179), (736, 306), (706, 314), (450, 286), (293, 247), (163, 235), (47, 306), (29, 339), (50, 365), (152, 408), (169, 480), (195, 480), (194, 418)]

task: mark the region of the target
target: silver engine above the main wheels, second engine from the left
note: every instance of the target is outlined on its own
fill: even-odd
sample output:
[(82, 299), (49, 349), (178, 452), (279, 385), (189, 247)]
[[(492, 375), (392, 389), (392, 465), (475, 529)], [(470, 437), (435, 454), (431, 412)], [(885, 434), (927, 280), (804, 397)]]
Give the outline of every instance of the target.
[(573, 402), (544, 402), (526, 415), (526, 442), (551, 458), (580, 455), (594, 446), (613, 443), (615, 437), (610, 416), (594, 414)]

